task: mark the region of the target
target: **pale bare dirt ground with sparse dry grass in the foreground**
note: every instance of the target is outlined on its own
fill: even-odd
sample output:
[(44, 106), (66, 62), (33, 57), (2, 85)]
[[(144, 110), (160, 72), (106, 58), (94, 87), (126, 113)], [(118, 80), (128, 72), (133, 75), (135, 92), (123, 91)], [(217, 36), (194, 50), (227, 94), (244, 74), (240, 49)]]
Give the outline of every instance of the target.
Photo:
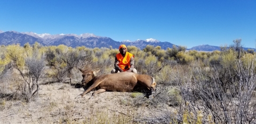
[[(163, 112), (152, 106), (134, 106), (132, 93), (104, 92), (90, 98), (92, 91), (83, 98), (75, 98), (83, 91), (70, 84), (54, 83), (40, 85), (38, 96), (30, 103), (2, 99), (0, 123), (98, 123), (102, 120), (118, 123), (108, 118), (138, 120)], [(168, 105), (163, 107), (166, 111), (174, 111)]]

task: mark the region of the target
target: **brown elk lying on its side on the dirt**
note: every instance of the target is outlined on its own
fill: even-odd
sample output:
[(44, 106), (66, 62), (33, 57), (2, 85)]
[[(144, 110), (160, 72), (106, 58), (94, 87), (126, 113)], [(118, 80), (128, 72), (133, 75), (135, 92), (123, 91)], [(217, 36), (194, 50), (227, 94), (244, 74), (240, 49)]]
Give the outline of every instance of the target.
[(106, 90), (132, 92), (135, 90), (135, 86), (138, 86), (138, 89), (149, 90), (151, 94), (155, 92), (156, 82), (153, 77), (148, 75), (121, 72), (97, 76), (100, 70), (79, 70), (83, 73), (82, 84), (89, 86), (85, 89), (84, 93), (80, 94), (82, 97), (94, 88), (96, 88), (97, 91), (95, 91), (92, 96), (105, 92)]

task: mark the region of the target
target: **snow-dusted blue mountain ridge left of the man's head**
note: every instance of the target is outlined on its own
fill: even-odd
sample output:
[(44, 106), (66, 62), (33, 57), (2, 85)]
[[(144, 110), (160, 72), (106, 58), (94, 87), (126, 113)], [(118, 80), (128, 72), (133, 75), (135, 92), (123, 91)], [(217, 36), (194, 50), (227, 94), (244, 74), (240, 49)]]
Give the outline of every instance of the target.
[(100, 37), (93, 34), (85, 33), (81, 35), (76, 34), (36, 34), (34, 32), (16, 32), (6, 31), (0, 34), (1, 45), (20, 44), (23, 46), (26, 43), (34, 44), (38, 42), (42, 45), (67, 45), (70, 47), (86, 46), (94, 47), (119, 47), (120, 42), (109, 37)]

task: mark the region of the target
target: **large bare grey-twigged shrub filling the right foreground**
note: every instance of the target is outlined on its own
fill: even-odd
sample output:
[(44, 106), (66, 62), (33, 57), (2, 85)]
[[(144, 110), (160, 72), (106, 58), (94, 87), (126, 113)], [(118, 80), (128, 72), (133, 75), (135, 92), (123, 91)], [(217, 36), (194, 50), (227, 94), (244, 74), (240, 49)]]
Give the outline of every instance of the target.
[[(181, 113), (201, 110), (214, 123), (255, 122), (256, 106), (252, 97), (256, 87), (255, 65), (234, 57), (233, 51), (222, 55), (221, 68), (213, 66), (205, 71), (198, 66), (187, 72), (184, 70), (188, 69), (181, 68), (172, 73), (181, 90)], [(225, 81), (230, 83), (223, 85)]]

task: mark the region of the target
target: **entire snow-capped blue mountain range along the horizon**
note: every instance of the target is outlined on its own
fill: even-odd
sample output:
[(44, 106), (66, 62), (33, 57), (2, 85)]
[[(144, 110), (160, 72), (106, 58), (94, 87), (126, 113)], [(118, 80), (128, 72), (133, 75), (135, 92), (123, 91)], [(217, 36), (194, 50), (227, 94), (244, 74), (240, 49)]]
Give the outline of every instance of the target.
[[(93, 34), (85, 33), (81, 35), (76, 34), (36, 34), (34, 32), (17, 32), (17, 31), (1, 31), (0, 30), (0, 45), (11, 45), (20, 44), (23, 46), (26, 43), (34, 44), (38, 42), (44, 46), (58, 46), (60, 44), (77, 47), (85, 46), (89, 48), (94, 47), (107, 47), (118, 48), (119, 45), (125, 44), (126, 46), (136, 46), (140, 49), (145, 48), (147, 45), (161, 46), (162, 49), (172, 48), (174, 44), (170, 42), (160, 42), (159, 40), (149, 38), (146, 40), (135, 40), (134, 42), (130, 40), (124, 40), (122, 42), (117, 42), (109, 37), (95, 36)], [(177, 45), (175, 45), (177, 46)], [(244, 48), (247, 50), (248, 48)], [(253, 49), (253, 48), (252, 48)], [(196, 51), (215, 51), (220, 50), (219, 46), (210, 45), (199, 45), (187, 50)], [(255, 49), (254, 49), (255, 51)]]

